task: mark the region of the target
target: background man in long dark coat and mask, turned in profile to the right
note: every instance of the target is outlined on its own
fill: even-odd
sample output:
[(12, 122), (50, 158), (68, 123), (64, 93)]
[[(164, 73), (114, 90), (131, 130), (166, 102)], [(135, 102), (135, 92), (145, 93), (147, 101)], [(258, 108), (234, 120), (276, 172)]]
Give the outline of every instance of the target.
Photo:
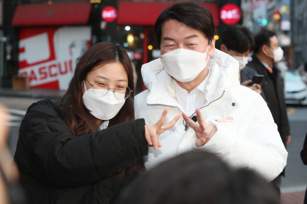
[[(283, 145), (286, 147), (291, 140), (290, 125), (286, 103), (284, 102), (283, 80), (275, 64), (279, 62), (282, 57), (283, 50), (278, 45), (275, 33), (268, 30), (262, 30), (255, 35), (254, 55), (252, 56), (252, 61), (249, 62), (247, 66), (254, 69), (258, 74), (265, 75), (261, 88), (266, 96), (274, 122), (277, 124)], [(242, 78), (242, 80), (249, 79)], [(274, 180), (278, 189), (280, 187), (281, 175), (284, 175), (284, 172)]]

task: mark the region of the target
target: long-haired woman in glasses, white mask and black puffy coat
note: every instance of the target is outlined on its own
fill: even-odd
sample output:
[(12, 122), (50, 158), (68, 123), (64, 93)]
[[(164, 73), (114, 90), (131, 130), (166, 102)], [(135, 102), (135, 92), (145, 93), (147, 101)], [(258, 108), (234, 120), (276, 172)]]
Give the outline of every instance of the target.
[(29, 203), (109, 203), (144, 169), (148, 145), (161, 147), (167, 109), (154, 125), (134, 120), (133, 67), (126, 50), (93, 45), (59, 101), (32, 104), (14, 160)]

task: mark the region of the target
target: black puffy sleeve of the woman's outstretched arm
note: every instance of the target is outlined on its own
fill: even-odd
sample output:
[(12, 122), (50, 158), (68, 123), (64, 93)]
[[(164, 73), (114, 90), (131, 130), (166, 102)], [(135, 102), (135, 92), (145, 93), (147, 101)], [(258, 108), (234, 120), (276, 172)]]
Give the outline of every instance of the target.
[(15, 160), (47, 185), (90, 184), (147, 155), (144, 119), (76, 137), (48, 105), (34, 105), (21, 122)]

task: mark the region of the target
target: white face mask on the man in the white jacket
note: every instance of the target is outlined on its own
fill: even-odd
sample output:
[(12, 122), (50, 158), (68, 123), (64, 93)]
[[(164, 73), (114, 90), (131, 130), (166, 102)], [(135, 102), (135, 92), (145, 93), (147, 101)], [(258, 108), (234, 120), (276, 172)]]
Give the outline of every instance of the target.
[[(209, 45), (207, 51), (208, 48)], [(174, 49), (161, 56), (164, 69), (174, 79), (190, 82), (207, 66), (207, 51), (201, 53), (190, 49)]]

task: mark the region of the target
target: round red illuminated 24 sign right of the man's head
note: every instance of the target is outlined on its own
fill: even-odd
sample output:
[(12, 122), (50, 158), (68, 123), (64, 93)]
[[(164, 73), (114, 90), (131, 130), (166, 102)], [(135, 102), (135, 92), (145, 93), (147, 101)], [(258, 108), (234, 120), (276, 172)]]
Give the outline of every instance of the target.
[(234, 25), (240, 21), (242, 14), (235, 4), (226, 4), (220, 10), (220, 18), (227, 25)]

